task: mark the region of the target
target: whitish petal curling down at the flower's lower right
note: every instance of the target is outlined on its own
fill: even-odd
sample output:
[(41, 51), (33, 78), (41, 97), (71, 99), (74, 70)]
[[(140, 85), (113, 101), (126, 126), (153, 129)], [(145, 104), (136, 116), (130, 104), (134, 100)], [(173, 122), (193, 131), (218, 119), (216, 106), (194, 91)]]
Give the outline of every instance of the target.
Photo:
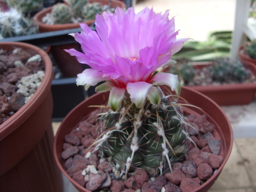
[(159, 72), (150, 80), (150, 83), (156, 83), (158, 85), (167, 85), (172, 89), (172, 91), (175, 91), (177, 95), (180, 94), (181, 86), (180, 81), (178, 79), (178, 75)]

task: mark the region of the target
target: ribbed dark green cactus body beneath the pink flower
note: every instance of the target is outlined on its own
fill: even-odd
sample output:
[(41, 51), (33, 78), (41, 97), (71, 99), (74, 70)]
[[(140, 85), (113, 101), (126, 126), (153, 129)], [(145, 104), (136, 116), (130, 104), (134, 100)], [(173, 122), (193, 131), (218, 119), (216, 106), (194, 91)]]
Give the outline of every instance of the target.
[(98, 121), (103, 134), (95, 150), (101, 148), (104, 154), (113, 156), (122, 173), (144, 168), (155, 176), (186, 153), (189, 124), (176, 98), (167, 96), (158, 106), (149, 102), (144, 106), (136, 108), (127, 99), (119, 111), (103, 113)]

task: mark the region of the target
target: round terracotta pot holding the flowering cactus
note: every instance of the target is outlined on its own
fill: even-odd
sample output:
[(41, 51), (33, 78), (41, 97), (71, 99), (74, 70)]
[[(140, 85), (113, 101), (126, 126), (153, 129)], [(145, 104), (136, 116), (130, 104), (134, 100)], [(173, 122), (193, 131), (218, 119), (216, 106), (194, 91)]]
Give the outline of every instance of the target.
[[(99, 105), (104, 104), (106, 100), (108, 100), (109, 93), (98, 93), (84, 102), (80, 103), (76, 108), (74, 108), (62, 121), (62, 124), (60, 125), (58, 132), (54, 139), (54, 157), (55, 160), (62, 171), (62, 173), (72, 182), (72, 184), (76, 187), (76, 189), (80, 192), (89, 192), (86, 188), (80, 186), (77, 182), (75, 182), (65, 171), (64, 168), (64, 160), (61, 158), (62, 154), (62, 146), (64, 143), (64, 137), (66, 134), (69, 134), (71, 130), (76, 128), (82, 120), (85, 119), (85, 117), (90, 114), (95, 108), (88, 108), (88, 106), (92, 105)], [(192, 105), (196, 105), (203, 110), (197, 109), (197, 108), (189, 108), (186, 107), (184, 110), (188, 113), (194, 113), (194, 114), (206, 114), (208, 117), (208, 120), (210, 123), (215, 124), (216, 129), (214, 130), (213, 134), (215, 138), (220, 139), (221, 144), (221, 152), (220, 154), (224, 157), (224, 162), (218, 168), (216, 173), (204, 184), (202, 184), (200, 187), (198, 187), (196, 190), (193, 190), (193, 192), (206, 192), (216, 181), (218, 178), (220, 172), (222, 171), (222, 168), (226, 164), (228, 157), (230, 156), (230, 152), (232, 149), (232, 143), (233, 143), (233, 133), (232, 128), (230, 125), (230, 122), (224, 112), (221, 110), (221, 108), (210, 98), (204, 96), (203, 94), (192, 90), (187, 87), (182, 87), (181, 95), (184, 99), (188, 101), (188, 103)]]

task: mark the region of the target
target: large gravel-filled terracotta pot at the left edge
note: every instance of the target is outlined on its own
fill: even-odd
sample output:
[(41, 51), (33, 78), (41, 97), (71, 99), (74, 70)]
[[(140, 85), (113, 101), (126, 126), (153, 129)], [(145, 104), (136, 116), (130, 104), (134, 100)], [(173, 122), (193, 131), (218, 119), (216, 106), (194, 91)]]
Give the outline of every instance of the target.
[(31, 44), (1, 42), (12, 50), (32, 49), (42, 57), (45, 76), (34, 96), (0, 125), (0, 188), (4, 192), (61, 192), (62, 175), (53, 157), (52, 62), (48, 54)]

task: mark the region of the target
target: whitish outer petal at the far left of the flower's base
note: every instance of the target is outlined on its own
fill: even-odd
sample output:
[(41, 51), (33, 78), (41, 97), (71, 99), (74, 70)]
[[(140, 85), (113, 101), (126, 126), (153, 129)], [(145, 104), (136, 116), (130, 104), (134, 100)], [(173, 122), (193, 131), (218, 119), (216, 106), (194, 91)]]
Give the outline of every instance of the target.
[(86, 69), (77, 75), (76, 84), (83, 85), (87, 91), (90, 86), (94, 86), (103, 80), (104, 78), (102, 78), (102, 74), (98, 73), (97, 70)]

